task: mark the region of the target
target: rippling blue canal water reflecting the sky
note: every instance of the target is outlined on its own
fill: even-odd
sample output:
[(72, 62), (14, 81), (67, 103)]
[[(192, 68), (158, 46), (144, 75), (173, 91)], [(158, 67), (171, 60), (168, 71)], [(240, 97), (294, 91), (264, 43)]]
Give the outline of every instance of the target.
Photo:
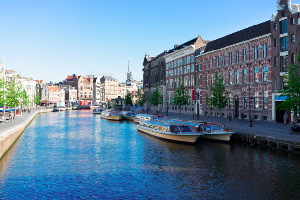
[(0, 160), (0, 199), (300, 199), (300, 156), (176, 144), (90, 110), (38, 115)]

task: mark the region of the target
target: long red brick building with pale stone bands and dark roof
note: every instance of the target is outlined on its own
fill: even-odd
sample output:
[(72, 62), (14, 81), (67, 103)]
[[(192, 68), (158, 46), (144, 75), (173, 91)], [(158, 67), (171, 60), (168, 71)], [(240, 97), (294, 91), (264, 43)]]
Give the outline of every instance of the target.
[(202, 115), (219, 115), (209, 104), (210, 88), (218, 72), (230, 92), (222, 116), (227, 117), (231, 112), (233, 117), (239, 118), (243, 112), (250, 118), (253, 99), (253, 118), (271, 121), (271, 49), (270, 21), (266, 21), (213, 40), (204, 50), (197, 50), (196, 88), (200, 97), (197, 111)]

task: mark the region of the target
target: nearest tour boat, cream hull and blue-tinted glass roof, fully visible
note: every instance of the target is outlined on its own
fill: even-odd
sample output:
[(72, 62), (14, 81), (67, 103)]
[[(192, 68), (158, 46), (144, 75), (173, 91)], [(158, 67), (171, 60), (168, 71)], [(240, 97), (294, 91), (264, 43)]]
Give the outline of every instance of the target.
[(150, 136), (175, 142), (195, 143), (204, 135), (197, 132), (193, 125), (175, 122), (141, 121), (136, 127)]

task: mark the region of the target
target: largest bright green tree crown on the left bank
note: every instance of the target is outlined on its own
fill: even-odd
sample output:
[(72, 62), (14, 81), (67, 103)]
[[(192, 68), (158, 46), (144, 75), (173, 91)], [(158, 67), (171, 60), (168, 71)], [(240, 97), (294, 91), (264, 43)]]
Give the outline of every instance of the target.
[(19, 105), (20, 88), (20, 85), (16, 85), (15, 79), (9, 85), (7, 85), (5, 94), (6, 106), (13, 108)]

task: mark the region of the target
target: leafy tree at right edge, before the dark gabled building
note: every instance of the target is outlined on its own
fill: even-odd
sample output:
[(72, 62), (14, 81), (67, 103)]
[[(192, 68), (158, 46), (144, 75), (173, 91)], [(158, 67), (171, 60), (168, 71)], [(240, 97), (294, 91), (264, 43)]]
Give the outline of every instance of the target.
[(294, 111), (296, 125), (298, 125), (298, 113), (300, 110), (300, 51), (297, 63), (289, 66), (288, 76), (283, 76), (284, 88), (279, 91), (279, 97), (287, 97), (276, 109)]

